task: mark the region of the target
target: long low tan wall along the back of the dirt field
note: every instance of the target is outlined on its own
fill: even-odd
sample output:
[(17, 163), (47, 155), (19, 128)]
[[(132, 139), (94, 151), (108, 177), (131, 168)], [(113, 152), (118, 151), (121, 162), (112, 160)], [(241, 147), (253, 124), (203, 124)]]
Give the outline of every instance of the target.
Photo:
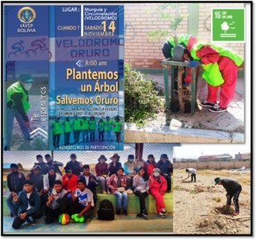
[(250, 168), (250, 161), (232, 161), (232, 162), (208, 162), (208, 163), (173, 163), (174, 169), (188, 168), (194, 169), (239, 169), (241, 167)]

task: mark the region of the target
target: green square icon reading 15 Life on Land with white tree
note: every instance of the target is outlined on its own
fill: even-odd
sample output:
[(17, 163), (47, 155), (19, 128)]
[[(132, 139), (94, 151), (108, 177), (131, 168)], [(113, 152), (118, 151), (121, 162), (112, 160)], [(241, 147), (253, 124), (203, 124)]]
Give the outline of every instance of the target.
[(245, 8), (212, 8), (212, 41), (245, 42)]

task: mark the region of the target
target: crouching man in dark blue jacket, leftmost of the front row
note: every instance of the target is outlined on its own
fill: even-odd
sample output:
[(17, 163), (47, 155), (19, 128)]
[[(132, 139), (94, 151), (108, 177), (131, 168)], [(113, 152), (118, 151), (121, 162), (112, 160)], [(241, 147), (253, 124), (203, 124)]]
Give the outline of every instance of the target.
[(24, 182), (24, 190), (19, 195), (14, 193), (12, 196), (18, 211), (18, 216), (15, 217), (12, 228), (20, 228), (25, 221), (35, 225), (35, 219), (41, 218), (43, 212), (40, 210), (40, 196), (37, 189), (33, 187), (33, 183), (30, 180), (26, 180)]

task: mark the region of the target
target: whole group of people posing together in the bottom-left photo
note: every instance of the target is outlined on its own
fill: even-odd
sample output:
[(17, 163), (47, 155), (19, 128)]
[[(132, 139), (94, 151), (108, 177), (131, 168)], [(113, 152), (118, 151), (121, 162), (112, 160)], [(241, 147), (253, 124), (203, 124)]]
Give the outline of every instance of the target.
[(7, 177), (10, 194), (7, 204), (10, 216), (15, 217), (12, 227), (18, 229), (26, 221), (35, 224), (35, 220), (44, 215), (46, 223), (52, 223), (62, 213), (77, 214), (90, 219), (98, 201), (96, 187), (100, 185), (103, 194), (111, 193), (117, 197), (116, 214), (127, 215), (127, 194), (135, 194), (140, 201), (138, 217), (147, 216), (145, 198), (152, 194), (156, 199), (158, 216), (167, 214), (163, 195), (171, 190), (172, 163), (166, 154), (162, 154), (158, 163), (150, 154), (147, 161), (134, 160), (129, 155), (123, 167), (120, 156), (113, 154), (111, 163), (101, 155), (95, 165), (96, 176), (91, 174), (89, 165), (82, 165), (75, 154), (64, 167), (46, 154), (46, 163), (37, 155), (37, 163), (26, 176), (19, 172), (15, 163), (10, 165)]

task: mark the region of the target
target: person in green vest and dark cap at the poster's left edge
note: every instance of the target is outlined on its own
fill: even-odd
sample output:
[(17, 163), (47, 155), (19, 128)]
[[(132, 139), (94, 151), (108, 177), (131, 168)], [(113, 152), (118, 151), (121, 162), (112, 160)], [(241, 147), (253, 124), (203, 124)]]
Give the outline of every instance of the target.
[(30, 120), (28, 111), (30, 103), (28, 101), (28, 91), (32, 86), (30, 74), (19, 75), (19, 81), (10, 85), (6, 95), (6, 133), (3, 150), (10, 150), (12, 141), (13, 121), (16, 118), (26, 142), (30, 140)]

